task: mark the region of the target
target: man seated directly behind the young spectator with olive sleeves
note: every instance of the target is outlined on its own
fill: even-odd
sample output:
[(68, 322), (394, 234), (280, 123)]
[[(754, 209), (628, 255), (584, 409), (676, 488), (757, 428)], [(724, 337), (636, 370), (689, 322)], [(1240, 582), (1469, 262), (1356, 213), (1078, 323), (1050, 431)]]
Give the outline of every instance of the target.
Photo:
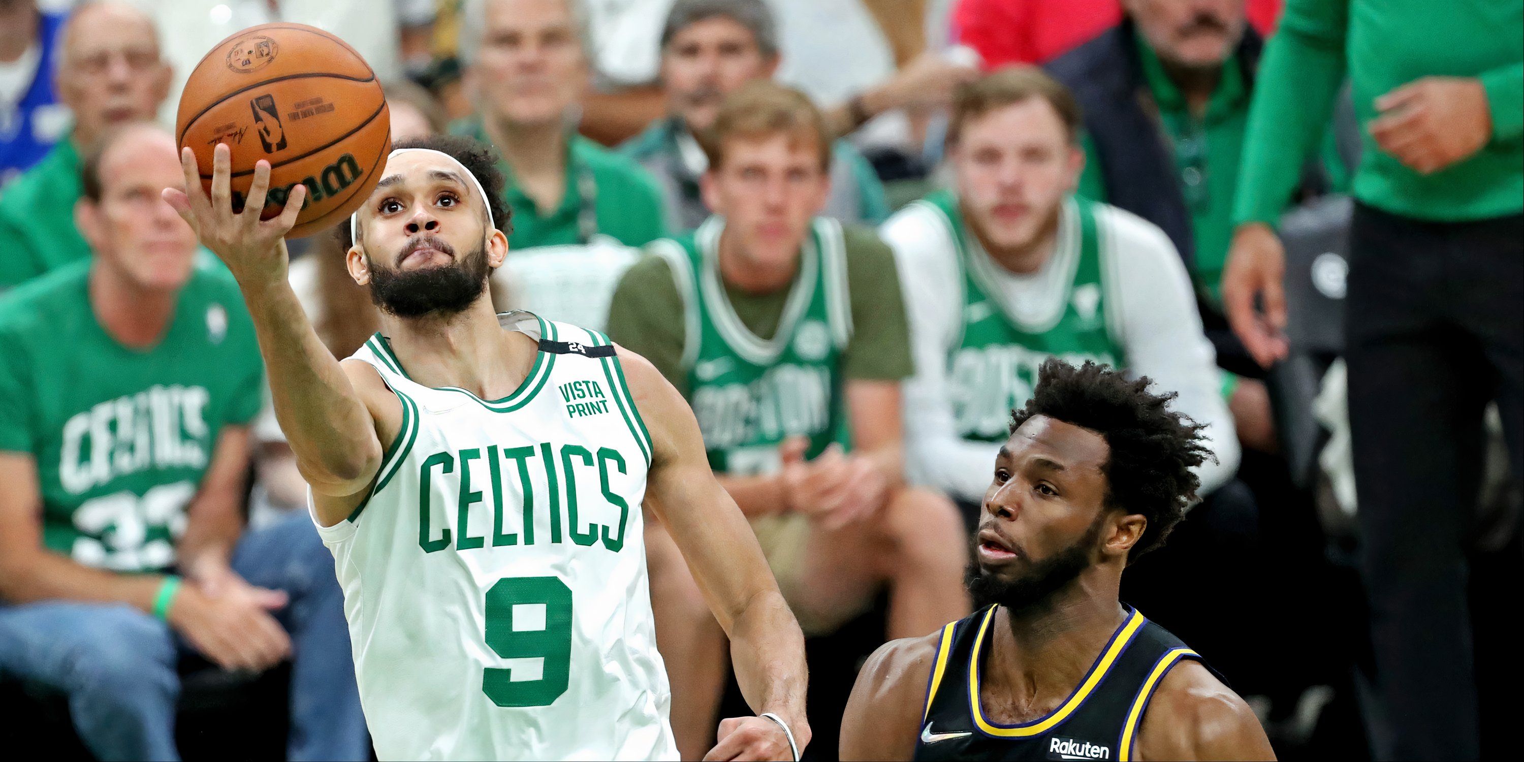
[[(698, 190), (707, 168), (693, 133), (709, 130), (725, 94), (753, 79), (771, 79), (780, 62), (777, 23), (762, 0), (680, 0), (661, 30), (661, 87), (671, 114), (629, 139), (620, 152), (640, 162), (663, 186), (668, 215), (683, 230), (709, 209)], [(824, 213), (843, 223), (882, 223), (884, 184), (850, 142), (832, 143), (831, 197)]]

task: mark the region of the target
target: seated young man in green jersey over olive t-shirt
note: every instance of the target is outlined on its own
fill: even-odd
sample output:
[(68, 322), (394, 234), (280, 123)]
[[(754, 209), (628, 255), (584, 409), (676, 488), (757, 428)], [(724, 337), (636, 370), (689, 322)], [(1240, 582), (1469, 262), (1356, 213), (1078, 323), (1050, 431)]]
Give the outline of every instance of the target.
[[(966, 611), (965, 533), (948, 500), (901, 480), (911, 364), (893, 256), (870, 230), (817, 216), (832, 143), (803, 94), (750, 82), (706, 143), (715, 216), (649, 247), (610, 331), (693, 405), (806, 634), (834, 631), (882, 587), (890, 637), (930, 632)], [(684, 728), (710, 727), (724, 646), (681, 564), (652, 556), (661, 648), (686, 655), (669, 663), (686, 686), (674, 728), (692, 751), (701, 741)]]

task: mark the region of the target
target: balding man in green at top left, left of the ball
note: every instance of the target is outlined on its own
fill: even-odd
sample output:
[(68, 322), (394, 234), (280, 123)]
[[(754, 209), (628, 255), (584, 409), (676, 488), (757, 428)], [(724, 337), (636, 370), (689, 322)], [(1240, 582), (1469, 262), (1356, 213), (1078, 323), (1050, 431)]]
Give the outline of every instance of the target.
[(158, 34), (142, 11), (91, 3), (69, 18), (61, 35), (58, 98), (73, 111), (75, 126), (0, 195), (0, 293), (90, 256), (73, 216), (79, 155), (111, 126), (152, 119), (169, 91)]

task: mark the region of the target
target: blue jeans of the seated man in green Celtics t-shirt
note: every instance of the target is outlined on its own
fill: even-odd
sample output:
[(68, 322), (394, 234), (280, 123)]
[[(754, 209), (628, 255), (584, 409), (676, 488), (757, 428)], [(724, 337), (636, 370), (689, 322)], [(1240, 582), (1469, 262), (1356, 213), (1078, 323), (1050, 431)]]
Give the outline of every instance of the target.
[[(274, 613), (291, 634), (288, 759), (369, 759), (344, 597), (312, 521), (299, 512), (245, 533), (233, 570), (290, 596)], [(168, 625), (123, 604), (0, 607), (0, 672), (66, 693), (79, 739), (102, 760), (178, 759), (175, 664), (187, 648)]]

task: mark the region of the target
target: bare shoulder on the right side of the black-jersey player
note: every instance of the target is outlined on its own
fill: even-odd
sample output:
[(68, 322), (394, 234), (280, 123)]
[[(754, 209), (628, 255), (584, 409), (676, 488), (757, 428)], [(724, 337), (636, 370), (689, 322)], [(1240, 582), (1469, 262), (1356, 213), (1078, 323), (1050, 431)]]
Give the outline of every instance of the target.
[(1140, 759), (1276, 759), (1254, 712), (1198, 661), (1164, 675), (1143, 715)]

